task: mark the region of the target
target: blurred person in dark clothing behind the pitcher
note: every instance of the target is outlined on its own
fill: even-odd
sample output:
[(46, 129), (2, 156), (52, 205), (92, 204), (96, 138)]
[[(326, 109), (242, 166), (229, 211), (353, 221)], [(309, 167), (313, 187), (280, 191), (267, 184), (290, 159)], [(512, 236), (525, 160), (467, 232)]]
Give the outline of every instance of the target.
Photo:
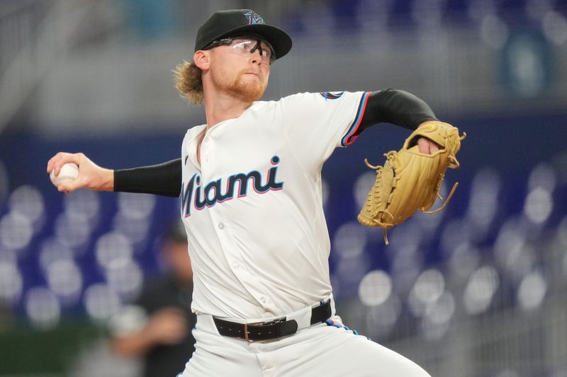
[(159, 258), (164, 272), (110, 321), (111, 346), (120, 356), (140, 357), (145, 377), (175, 376), (195, 350), (191, 329), (193, 270), (181, 221), (164, 233)]

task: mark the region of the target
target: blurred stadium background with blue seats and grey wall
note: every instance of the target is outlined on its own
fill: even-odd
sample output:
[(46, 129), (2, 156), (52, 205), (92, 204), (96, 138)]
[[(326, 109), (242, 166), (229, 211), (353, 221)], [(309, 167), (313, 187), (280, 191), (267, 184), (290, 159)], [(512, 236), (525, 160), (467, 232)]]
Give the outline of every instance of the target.
[(60, 195), (45, 166), (57, 151), (111, 168), (177, 158), (204, 115), (171, 69), (222, 8), (293, 37), (264, 99), (400, 88), (468, 133), (449, 207), (388, 247), (356, 221), (363, 160), (407, 132), (378, 125), (327, 161), (344, 320), (432, 376), (567, 376), (565, 0), (0, 0), (0, 376), (136, 375), (105, 324), (159, 270), (177, 200)]

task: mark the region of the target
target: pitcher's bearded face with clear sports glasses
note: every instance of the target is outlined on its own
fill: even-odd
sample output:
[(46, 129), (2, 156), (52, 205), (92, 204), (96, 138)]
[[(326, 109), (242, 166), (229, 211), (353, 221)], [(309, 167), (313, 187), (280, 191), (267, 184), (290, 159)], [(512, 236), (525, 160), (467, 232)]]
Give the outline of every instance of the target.
[(264, 43), (254, 50), (257, 40), (241, 38), (210, 50), (210, 76), (215, 88), (245, 102), (262, 98), (268, 85), (271, 54)]

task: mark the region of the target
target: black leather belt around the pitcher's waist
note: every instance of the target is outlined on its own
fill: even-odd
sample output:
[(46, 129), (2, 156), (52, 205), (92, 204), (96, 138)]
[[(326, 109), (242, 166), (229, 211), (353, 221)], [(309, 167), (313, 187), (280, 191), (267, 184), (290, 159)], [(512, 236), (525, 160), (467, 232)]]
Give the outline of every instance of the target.
[[(331, 316), (331, 301), (311, 309), (311, 325), (321, 323)], [(218, 333), (225, 337), (239, 337), (247, 342), (258, 340), (271, 340), (286, 335), (295, 334), (298, 330), (296, 320), (279, 318), (269, 322), (235, 323), (228, 320), (214, 318)]]

